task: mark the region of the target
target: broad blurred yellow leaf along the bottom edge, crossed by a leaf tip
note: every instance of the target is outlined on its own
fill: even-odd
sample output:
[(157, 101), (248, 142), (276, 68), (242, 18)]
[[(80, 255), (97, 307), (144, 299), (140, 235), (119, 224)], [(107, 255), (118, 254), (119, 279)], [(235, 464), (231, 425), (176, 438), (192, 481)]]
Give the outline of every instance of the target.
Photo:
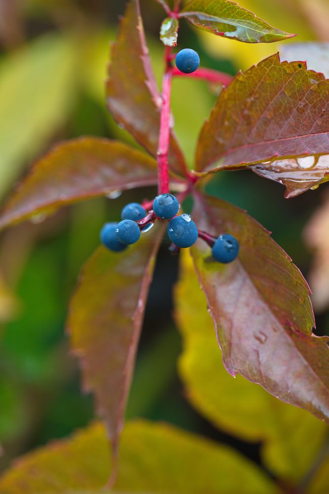
[[(261, 470), (227, 446), (144, 420), (122, 434), (116, 493), (278, 494)], [(195, 459), (197, 458), (197, 461)], [(193, 465), (193, 468), (191, 468)], [(101, 424), (23, 456), (0, 479), (1, 494), (109, 492), (107, 438)]]

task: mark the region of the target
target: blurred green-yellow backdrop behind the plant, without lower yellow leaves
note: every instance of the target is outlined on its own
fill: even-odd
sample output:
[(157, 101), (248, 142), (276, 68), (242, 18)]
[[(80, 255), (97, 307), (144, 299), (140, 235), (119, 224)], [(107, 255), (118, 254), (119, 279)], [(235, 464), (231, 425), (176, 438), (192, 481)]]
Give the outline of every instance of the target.
[[(105, 105), (109, 43), (124, 3), (0, 0), (1, 203), (53, 143), (89, 134), (136, 145), (116, 126)], [(316, 18), (309, 15), (308, 0), (240, 4), (272, 25), (298, 33), (298, 41), (326, 39), (327, 31), (321, 29), (328, 15), (326, 1), (315, 2), (323, 8), (323, 16)], [(164, 12), (154, 0), (142, 0), (142, 10), (159, 80), (163, 48), (158, 32)], [(219, 39), (182, 22), (178, 47), (187, 46), (198, 50), (204, 66), (232, 75), (279, 49), (277, 43), (245, 45)], [(191, 166), (198, 131), (215, 98), (204, 82), (174, 82), (176, 131)], [(209, 193), (247, 209), (272, 231), (306, 277), (311, 252), (303, 244), (302, 231), (327, 188), (287, 201), (281, 186), (249, 171), (222, 172), (207, 185)], [(117, 219), (127, 202), (150, 199), (154, 193), (144, 189), (125, 192), (116, 200), (88, 201), (1, 235), (1, 468), (92, 419), (92, 398), (80, 392), (77, 362), (65, 335), (68, 302), (81, 265), (99, 243), (103, 222)], [(171, 316), (178, 259), (166, 247), (161, 249), (147, 304), (127, 416), (168, 420), (232, 445), (260, 463), (258, 442), (233, 437), (223, 426), (215, 428), (185, 399), (177, 371), (182, 341)], [(317, 315), (317, 334), (329, 334), (328, 313)]]

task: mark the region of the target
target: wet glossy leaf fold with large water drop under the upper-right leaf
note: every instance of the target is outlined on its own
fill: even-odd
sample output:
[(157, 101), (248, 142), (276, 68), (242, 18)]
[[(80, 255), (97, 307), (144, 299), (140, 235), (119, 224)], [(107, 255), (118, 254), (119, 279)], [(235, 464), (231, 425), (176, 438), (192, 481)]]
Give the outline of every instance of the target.
[(298, 196), (309, 189), (317, 188), (329, 180), (329, 155), (274, 161), (251, 166), (259, 176), (269, 178), (286, 187), (285, 198)]

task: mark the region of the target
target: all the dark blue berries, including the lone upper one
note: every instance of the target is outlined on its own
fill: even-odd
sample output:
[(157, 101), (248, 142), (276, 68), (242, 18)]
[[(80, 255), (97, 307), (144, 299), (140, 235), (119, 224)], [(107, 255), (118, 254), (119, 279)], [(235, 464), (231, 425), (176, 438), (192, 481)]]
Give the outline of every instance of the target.
[[(199, 65), (199, 55), (189, 48), (181, 50), (176, 56), (176, 66), (184, 74), (195, 72)], [(103, 226), (100, 237), (105, 247), (120, 252), (128, 245), (135, 244), (141, 232), (148, 231), (156, 219), (162, 219), (169, 221), (167, 232), (172, 242), (169, 249), (173, 253), (179, 252), (180, 248), (191, 247), (199, 237), (212, 247), (213, 257), (217, 261), (226, 264), (237, 257), (239, 243), (232, 235), (219, 235), (216, 238), (199, 231), (189, 214), (177, 214), (180, 204), (172, 194), (160, 194), (152, 204), (146, 203), (144, 206), (127, 204), (121, 211), (119, 223), (106, 223)]]

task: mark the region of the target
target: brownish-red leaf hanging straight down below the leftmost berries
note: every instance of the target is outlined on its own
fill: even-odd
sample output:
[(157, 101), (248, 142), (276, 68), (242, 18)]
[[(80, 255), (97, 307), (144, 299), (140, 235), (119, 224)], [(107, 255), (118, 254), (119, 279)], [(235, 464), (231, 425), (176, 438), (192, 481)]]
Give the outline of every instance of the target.
[(99, 247), (86, 263), (70, 304), (73, 353), (80, 359), (85, 391), (95, 393), (114, 451), (163, 231), (164, 225), (155, 224), (121, 253)]

